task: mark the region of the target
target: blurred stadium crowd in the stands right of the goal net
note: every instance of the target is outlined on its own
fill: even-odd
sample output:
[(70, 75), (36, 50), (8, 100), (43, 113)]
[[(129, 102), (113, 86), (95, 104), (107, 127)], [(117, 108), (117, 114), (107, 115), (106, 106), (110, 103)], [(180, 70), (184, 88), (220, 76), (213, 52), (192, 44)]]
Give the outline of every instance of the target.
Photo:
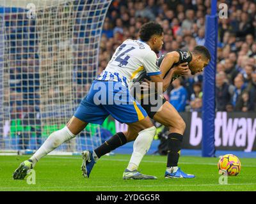
[[(252, 112), (256, 110), (256, 3), (248, 0), (219, 3), (228, 5), (228, 18), (218, 20), (216, 110)], [(164, 45), (159, 56), (204, 45), (205, 15), (210, 13), (210, 0), (114, 0), (102, 31), (99, 73), (116, 47), (127, 38), (137, 39), (141, 25), (150, 20), (156, 20), (164, 28)], [(202, 73), (182, 77), (173, 82), (165, 96), (179, 112), (200, 112), (202, 80)]]

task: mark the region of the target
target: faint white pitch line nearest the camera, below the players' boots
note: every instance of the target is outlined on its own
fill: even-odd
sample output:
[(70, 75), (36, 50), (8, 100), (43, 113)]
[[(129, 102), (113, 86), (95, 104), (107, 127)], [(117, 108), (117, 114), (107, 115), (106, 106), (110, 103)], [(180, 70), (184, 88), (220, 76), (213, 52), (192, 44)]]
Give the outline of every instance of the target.
[[(256, 186), (256, 183), (249, 183), (249, 184), (226, 184), (226, 185), (221, 185), (221, 184), (170, 184), (170, 185), (166, 185), (166, 184), (163, 184), (163, 185), (143, 185), (142, 187), (174, 187), (174, 186), (177, 186), (177, 187), (189, 187), (189, 186), (196, 186), (196, 187), (200, 187), (200, 186), (222, 186), (222, 187), (227, 187), (227, 186), (253, 186), (255, 185)], [(55, 187), (22, 187), (22, 189), (36, 189), (36, 188), (40, 188), (40, 189), (63, 189), (64, 188), (70, 188), (70, 189), (74, 189), (74, 188), (79, 188), (79, 189), (83, 189), (83, 188), (114, 188), (114, 187), (137, 187), (138, 188), (138, 185), (125, 185), (125, 186), (55, 186)], [(19, 187), (0, 187), (0, 189), (17, 189)]]

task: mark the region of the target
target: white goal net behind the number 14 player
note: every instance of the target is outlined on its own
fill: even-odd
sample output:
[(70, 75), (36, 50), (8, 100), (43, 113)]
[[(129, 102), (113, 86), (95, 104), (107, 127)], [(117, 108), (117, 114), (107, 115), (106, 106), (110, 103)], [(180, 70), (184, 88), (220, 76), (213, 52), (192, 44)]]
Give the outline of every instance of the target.
[[(111, 0), (0, 0), (0, 150), (35, 150), (63, 128), (97, 76)], [(100, 145), (89, 124), (58, 150)]]

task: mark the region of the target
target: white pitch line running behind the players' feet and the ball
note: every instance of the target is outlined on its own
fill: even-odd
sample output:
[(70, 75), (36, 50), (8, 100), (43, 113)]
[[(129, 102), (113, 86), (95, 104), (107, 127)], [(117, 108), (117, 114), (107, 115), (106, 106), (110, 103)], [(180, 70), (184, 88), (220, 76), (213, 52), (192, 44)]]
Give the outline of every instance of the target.
[[(60, 159), (81, 159), (79, 157), (58, 157), (58, 156), (51, 156), (51, 158), (60, 158)], [(106, 159), (102, 158), (100, 160), (104, 161), (129, 161), (129, 159)], [(153, 160), (142, 160), (141, 162), (147, 162), (147, 163), (166, 163), (166, 161), (153, 161)], [(189, 164), (189, 165), (211, 165), (211, 166), (216, 166), (217, 163), (189, 163), (189, 162), (179, 162), (179, 164)], [(241, 165), (242, 167), (256, 167), (256, 165)]]

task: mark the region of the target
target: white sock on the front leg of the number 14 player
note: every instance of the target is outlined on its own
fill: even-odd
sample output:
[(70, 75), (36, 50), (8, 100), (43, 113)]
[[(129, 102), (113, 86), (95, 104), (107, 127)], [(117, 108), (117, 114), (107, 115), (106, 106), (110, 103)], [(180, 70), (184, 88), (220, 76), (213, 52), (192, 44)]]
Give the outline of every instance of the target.
[(127, 170), (129, 171), (138, 170), (138, 166), (140, 165), (140, 162), (143, 156), (147, 153), (148, 149), (150, 148), (150, 145), (155, 135), (156, 135), (155, 126), (151, 128), (143, 129), (143, 131), (140, 131), (138, 137), (134, 141), (133, 152), (132, 152), (130, 162), (127, 166)]

